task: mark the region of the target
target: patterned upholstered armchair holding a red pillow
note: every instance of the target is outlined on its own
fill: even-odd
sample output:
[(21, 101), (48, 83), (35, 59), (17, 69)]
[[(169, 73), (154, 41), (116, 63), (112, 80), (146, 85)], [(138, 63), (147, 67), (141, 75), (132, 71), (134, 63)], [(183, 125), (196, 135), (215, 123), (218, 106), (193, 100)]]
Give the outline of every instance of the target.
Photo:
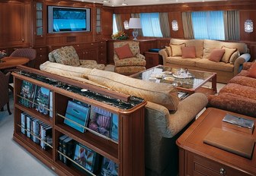
[(145, 56), (139, 53), (139, 42), (114, 42), (115, 72), (119, 74), (135, 74), (146, 70)]

